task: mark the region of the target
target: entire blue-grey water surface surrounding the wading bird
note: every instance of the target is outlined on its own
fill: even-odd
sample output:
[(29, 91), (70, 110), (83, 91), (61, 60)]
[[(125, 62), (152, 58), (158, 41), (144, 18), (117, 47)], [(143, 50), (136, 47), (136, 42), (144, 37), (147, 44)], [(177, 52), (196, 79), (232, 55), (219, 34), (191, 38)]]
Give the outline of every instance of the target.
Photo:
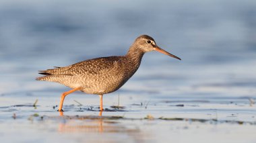
[[(255, 142), (255, 6), (0, 1), (1, 140)], [(59, 117), (54, 107), (69, 88), (34, 81), (37, 70), (125, 54), (141, 34), (183, 60), (147, 53), (121, 89), (104, 95), (102, 117), (98, 96), (79, 92), (67, 96)], [(125, 108), (111, 108), (118, 104)]]

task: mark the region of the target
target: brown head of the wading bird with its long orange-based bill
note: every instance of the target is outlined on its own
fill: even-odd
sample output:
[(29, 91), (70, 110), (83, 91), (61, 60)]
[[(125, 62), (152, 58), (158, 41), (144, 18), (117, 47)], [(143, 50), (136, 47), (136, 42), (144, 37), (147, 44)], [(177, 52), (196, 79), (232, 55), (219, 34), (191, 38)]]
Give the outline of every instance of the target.
[(168, 56), (181, 60), (181, 58), (179, 58), (178, 56), (174, 56), (173, 54), (170, 54), (169, 52), (166, 52), (166, 50), (163, 50), (162, 48), (157, 46), (155, 40), (150, 36), (147, 36), (147, 35), (139, 36), (138, 38), (136, 38), (134, 44), (137, 48), (139, 48), (143, 52), (150, 52), (150, 51), (156, 50), (158, 52), (161, 52), (162, 54), (166, 54)]

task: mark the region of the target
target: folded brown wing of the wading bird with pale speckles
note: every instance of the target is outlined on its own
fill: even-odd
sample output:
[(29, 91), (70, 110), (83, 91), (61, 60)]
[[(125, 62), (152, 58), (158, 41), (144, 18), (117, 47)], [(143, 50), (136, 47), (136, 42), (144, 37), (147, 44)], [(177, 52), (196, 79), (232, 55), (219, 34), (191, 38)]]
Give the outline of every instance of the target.
[(121, 56), (108, 56), (102, 58), (94, 58), (77, 62), (70, 66), (57, 67), (53, 69), (40, 70), (42, 75), (82, 75), (84, 73), (97, 74), (102, 70), (116, 67), (121, 60)]

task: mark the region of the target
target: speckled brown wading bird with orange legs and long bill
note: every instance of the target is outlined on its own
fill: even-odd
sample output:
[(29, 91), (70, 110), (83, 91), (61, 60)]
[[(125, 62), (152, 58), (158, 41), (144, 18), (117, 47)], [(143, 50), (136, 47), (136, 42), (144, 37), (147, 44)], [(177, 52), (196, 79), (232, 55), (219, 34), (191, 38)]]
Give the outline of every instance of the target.
[(158, 51), (181, 60), (166, 50), (160, 48), (155, 40), (148, 35), (141, 35), (131, 44), (127, 54), (123, 56), (108, 56), (77, 62), (69, 66), (54, 66), (52, 69), (39, 70), (38, 81), (51, 81), (70, 87), (61, 95), (58, 111), (63, 111), (63, 102), (67, 95), (74, 91), (99, 95), (100, 111), (103, 109), (103, 95), (117, 91), (137, 71), (141, 59), (146, 52)]

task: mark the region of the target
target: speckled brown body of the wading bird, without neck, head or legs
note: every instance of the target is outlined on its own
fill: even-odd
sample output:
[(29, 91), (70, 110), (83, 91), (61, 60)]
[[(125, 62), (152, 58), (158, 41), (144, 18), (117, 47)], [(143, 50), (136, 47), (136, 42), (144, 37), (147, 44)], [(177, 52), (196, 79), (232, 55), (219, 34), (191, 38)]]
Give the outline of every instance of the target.
[[(94, 58), (71, 66), (43, 70), (39, 81), (53, 81), (89, 94), (106, 94), (119, 89), (135, 73), (140, 60), (126, 56)], [(133, 67), (131, 69), (131, 67)]]

